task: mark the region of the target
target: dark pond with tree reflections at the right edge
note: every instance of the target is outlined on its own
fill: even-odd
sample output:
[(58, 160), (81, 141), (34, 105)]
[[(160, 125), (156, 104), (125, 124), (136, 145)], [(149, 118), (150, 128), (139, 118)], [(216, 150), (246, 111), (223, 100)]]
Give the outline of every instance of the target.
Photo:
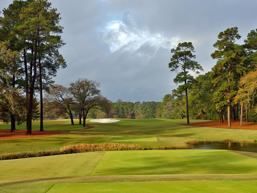
[(194, 144), (198, 150), (236, 150), (257, 152), (257, 142), (204, 142)]

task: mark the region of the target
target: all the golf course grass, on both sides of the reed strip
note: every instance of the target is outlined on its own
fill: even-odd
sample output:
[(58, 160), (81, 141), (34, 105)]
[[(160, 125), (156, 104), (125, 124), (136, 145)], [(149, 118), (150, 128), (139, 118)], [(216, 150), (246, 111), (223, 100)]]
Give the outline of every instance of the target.
[[(183, 145), (193, 139), (252, 141), (257, 138), (257, 130), (179, 125), (186, 120), (121, 119), (115, 123), (92, 124), (87, 119), (86, 123), (94, 126), (90, 129), (83, 129), (77, 124), (78, 120), (75, 120), (76, 125), (73, 126), (69, 121), (68, 119), (44, 121), (44, 129), (72, 130), (70, 133), (0, 140), (0, 154), (54, 150), (79, 143), (117, 142), (156, 147)], [(203, 120), (191, 120), (191, 122), (197, 121)], [(0, 129), (9, 129), (9, 127), (10, 125), (0, 123)], [(18, 127), (25, 129), (25, 125)], [(39, 129), (39, 121), (33, 122), (33, 129)], [(196, 181), (191, 182), (191, 180)], [(257, 153), (226, 150), (88, 152), (0, 161), (0, 192), (8, 193), (68, 191), (79, 193), (82, 190), (83, 192), (256, 192), (253, 186), (256, 180)], [(140, 188), (142, 191), (137, 191)]]

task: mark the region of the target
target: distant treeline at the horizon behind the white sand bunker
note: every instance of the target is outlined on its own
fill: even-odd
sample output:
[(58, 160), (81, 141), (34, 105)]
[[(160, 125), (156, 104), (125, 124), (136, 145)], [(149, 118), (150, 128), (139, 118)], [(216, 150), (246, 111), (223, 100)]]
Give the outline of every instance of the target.
[[(124, 102), (120, 99), (117, 102), (102, 101), (93, 108), (86, 108), (86, 118), (125, 118), (125, 119), (150, 119), (156, 118), (156, 109), (161, 102)], [(74, 118), (81, 119), (80, 112), (76, 108), (77, 103), (71, 101), (70, 110)], [(67, 105), (65, 105), (67, 107)], [(45, 118), (70, 118), (70, 114), (65, 108), (56, 108), (51, 103), (44, 103)]]

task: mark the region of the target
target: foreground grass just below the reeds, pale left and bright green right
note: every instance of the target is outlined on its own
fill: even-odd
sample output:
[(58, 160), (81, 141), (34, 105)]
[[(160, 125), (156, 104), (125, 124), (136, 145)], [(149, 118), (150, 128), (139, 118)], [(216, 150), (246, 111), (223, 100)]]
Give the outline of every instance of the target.
[(87, 152), (0, 161), (0, 181), (110, 175), (257, 174), (257, 160), (226, 150)]

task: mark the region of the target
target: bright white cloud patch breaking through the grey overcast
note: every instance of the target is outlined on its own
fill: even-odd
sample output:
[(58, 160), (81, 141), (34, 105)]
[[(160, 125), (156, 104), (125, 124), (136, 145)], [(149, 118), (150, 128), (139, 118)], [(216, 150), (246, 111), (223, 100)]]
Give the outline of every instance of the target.
[[(160, 48), (171, 49), (178, 44), (178, 37), (166, 37), (161, 33), (150, 33), (149, 30), (137, 29), (134, 25), (126, 25), (123, 21), (109, 21), (104, 30), (103, 41), (107, 43), (110, 51), (137, 51), (142, 47), (148, 46), (154, 49), (152, 56)], [(139, 57), (148, 55), (139, 51)]]

